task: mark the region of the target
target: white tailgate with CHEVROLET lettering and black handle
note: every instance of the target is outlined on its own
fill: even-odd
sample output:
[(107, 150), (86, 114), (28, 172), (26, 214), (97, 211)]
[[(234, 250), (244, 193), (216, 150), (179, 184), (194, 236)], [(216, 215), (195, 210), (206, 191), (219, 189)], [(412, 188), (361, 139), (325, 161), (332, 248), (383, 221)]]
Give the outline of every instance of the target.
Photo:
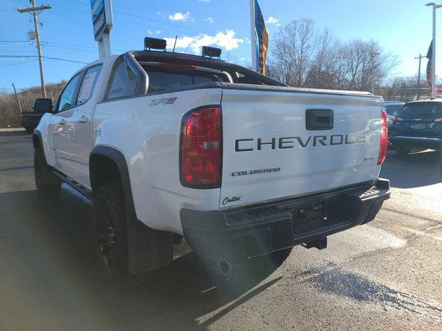
[(378, 177), (380, 97), (227, 88), (221, 106), (220, 208)]

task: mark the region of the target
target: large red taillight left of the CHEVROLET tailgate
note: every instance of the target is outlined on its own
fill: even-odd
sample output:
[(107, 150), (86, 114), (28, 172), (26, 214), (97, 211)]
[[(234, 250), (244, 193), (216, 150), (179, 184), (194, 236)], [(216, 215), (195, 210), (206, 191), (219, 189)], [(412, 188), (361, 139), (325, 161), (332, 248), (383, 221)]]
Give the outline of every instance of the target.
[(222, 171), (220, 106), (184, 115), (181, 127), (180, 180), (188, 188), (219, 188)]

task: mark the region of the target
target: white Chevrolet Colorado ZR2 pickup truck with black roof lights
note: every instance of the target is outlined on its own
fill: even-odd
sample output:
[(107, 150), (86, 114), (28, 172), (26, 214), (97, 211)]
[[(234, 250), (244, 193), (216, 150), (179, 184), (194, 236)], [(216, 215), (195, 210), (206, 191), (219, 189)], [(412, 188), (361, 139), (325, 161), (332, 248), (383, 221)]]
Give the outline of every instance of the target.
[(32, 139), (38, 193), (93, 201), (99, 269), (119, 282), (170, 263), (182, 238), (228, 271), (372, 221), (390, 184), (383, 99), (290, 88), (219, 59), (160, 51), (76, 72)]

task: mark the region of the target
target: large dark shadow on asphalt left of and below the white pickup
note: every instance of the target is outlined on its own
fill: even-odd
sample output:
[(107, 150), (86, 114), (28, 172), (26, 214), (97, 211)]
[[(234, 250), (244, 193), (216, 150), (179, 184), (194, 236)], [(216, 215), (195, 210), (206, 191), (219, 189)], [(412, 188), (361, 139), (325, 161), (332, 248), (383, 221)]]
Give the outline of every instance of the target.
[(8, 298), (0, 321), (21, 330), (205, 330), (278, 281), (257, 287), (270, 274), (262, 272), (216, 287), (189, 253), (147, 283), (115, 290), (95, 267), (89, 217), (90, 202), (70, 188), (51, 203), (35, 190), (0, 194), (0, 295)]

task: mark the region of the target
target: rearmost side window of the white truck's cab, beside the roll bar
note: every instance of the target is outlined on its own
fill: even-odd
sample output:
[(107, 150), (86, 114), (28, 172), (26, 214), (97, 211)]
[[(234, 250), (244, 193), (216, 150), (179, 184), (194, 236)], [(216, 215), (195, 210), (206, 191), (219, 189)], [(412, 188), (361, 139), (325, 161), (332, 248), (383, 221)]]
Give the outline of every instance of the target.
[(137, 88), (137, 76), (135, 76), (125, 61), (122, 59), (119, 61), (120, 63), (113, 72), (111, 83), (108, 86), (104, 99), (131, 97), (135, 93), (135, 88)]

